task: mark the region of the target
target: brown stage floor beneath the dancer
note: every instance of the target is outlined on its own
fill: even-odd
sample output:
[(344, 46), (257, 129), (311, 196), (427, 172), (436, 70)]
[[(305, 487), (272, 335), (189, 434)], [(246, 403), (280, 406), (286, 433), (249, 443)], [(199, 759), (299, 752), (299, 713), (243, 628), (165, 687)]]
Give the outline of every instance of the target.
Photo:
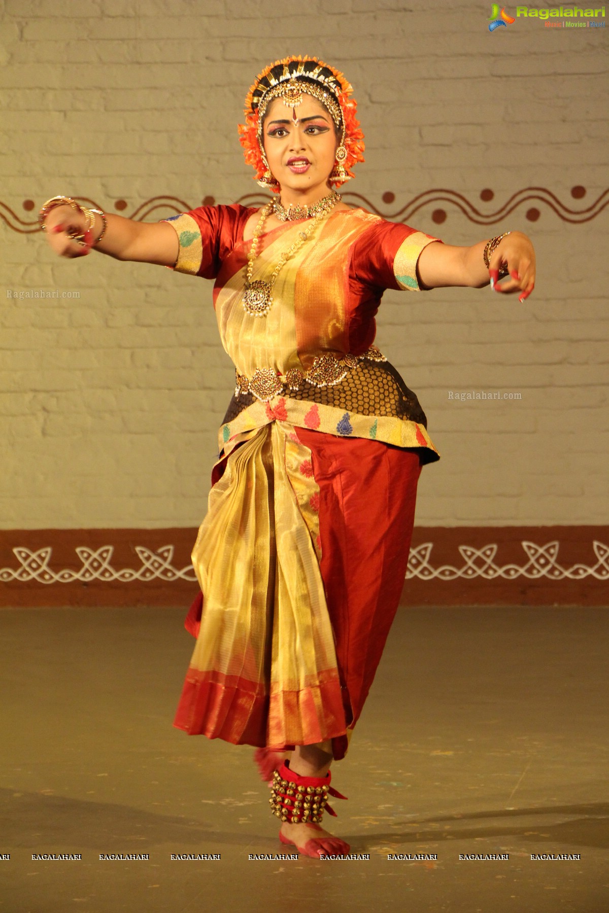
[(371, 858), (334, 863), (247, 859), (287, 847), (251, 750), (173, 729), (183, 616), (0, 612), (0, 913), (609, 909), (605, 609), (401, 609), (334, 768), (336, 833)]

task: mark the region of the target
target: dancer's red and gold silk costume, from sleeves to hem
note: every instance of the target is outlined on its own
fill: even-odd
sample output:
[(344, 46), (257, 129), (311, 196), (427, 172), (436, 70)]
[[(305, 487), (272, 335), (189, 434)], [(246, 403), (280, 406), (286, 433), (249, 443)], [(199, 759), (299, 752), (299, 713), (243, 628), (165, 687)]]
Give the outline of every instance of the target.
[[(215, 279), (236, 391), (219, 433), (193, 551), (194, 654), (174, 725), (283, 749), (332, 740), (344, 756), (404, 583), (416, 484), (438, 459), (425, 414), (373, 347), (384, 289), (419, 288), (436, 238), (362, 208), (336, 210), (281, 269), (259, 319), (243, 307), (241, 205), (168, 220), (175, 269)], [(268, 278), (303, 225), (259, 237)]]

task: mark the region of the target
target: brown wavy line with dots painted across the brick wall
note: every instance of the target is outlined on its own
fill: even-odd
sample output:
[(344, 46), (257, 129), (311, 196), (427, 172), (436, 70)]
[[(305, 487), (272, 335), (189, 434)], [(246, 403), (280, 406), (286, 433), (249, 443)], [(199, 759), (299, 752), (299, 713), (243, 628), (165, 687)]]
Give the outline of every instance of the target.
[[(581, 184), (577, 184), (571, 188), (570, 193), (573, 200), (583, 200), (587, 194), (587, 190)], [(481, 209), (478, 209), (479, 204), (474, 205), (474, 203), (467, 199), (467, 196), (457, 194), (456, 190), (448, 190), (443, 187), (425, 190), (423, 194), (417, 194), (404, 206), (397, 209), (394, 208), (395, 194), (391, 191), (386, 191), (383, 194), (382, 207), (375, 205), (372, 200), (369, 200), (366, 196), (362, 196), (362, 194), (346, 191), (342, 194), (342, 197), (345, 200), (345, 203), (362, 205), (365, 209), (370, 210), (370, 212), (382, 215), (383, 218), (390, 219), (392, 222), (408, 222), (416, 213), (419, 213), (422, 210), (428, 211), (431, 209), (431, 218), (436, 225), (442, 225), (443, 222), (446, 222), (446, 219), (450, 214), (453, 216), (464, 215), (469, 222), (473, 222), (476, 225), (492, 226), (505, 219), (506, 216), (513, 213), (514, 210), (525, 207), (525, 217), (528, 221), (537, 222), (541, 217), (541, 210), (545, 207), (546, 209), (549, 209), (551, 213), (562, 219), (562, 222), (570, 222), (579, 225), (583, 222), (590, 222), (593, 218), (596, 218), (597, 215), (600, 215), (600, 213), (603, 212), (605, 206), (609, 205), (609, 188), (604, 190), (602, 194), (599, 194), (593, 203), (582, 209), (572, 209), (565, 205), (556, 194), (552, 194), (546, 187), (525, 187), (522, 190), (517, 191), (517, 193), (512, 194), (505, 203), (499, 206), (499, 208), (488, 212), (483, 212)], [(104, 206), (101, 206), (96, 200), (89, 199), (89, 197), (77, 196), (75, 199), (80, 203), (104, 209)], [(260, 206), (267, 203), (268, 199), (268, 194), (264, 194), (260, 191), (256, 194), (241, 196), (235, 202), (247, 206)], [(484, 204), (491, 204), (495, 199), (495, 194), (489, 187), (486, 187), (484, 190), (480, 191), (479, 199)], [(22, 203), (22, 208), (26, 213), (32, 213), (34, 215), (44, 202), (44, 200), (37, 202), (35, 200), (26, 199)], [(136, 219), (139, 222), (145, 222), (146, 220), (151, 219), (152, 216), (153, 218), (151, 221), (154, 221), (163, 218), (163, 216), (188, 212), (189, 210), (196, 208), (197, 205), (214, 204), (215, 198), (213, 196), (205, 196), (201, 203), (195, 202), (192, 204), (179, 199), (177, 196), (162, 195), (152, 196), (141, 205), (136, 206), (130, 213), (126, 212), (126, 210), (130, 208), (130, 205), (126, 200), (115, 200), (112, 205), (113, 208), (122, 215), (127, 215), (129, 218)], [(109, 212), (110, 206), (106, 205), (105, 210)], [(29, 235), (41, 230), (38, 225), (37, 217), (30, 217), (29, 219), (21, 218), (16, 214), (14, 209), (2, 201), (0, 201), (0, 218), (3, 219), (9, 228), (12, 228), (13, 231), (18, 232), (21, 235)]]

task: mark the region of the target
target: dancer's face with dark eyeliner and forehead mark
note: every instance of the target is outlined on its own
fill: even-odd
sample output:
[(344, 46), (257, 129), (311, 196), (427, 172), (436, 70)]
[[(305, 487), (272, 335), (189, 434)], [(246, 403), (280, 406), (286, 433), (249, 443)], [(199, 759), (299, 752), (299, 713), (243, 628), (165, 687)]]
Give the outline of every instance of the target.
[(263, 142), (268, 167), (284, 190), (328, 193), (339, 137), (330, 112), (303, 92), (297, 108), (274, 99), (266, 111)]

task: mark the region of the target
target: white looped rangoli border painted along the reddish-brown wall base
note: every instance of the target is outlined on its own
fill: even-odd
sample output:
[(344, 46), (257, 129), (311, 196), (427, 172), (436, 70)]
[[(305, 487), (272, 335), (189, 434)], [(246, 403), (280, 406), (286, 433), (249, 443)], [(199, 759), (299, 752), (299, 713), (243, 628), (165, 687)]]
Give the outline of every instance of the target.
[[(495, 543), (485, 545), (480, 549), (470, 545), (459, 545), (458, 551), (465, 562), (463, 567), (457, 568), (450, 564), (442, 564), (434, 568), (429, 563), (433, 542), (422, 542), (411, 548), (408, 560), (406, 580), (418, 578), (419, 580), (451, 581), (458, 579), (472, 580), (481, 577), (483, 580), (515, 580), (525, 577), (528, 580), (547, 578), (551, 581), (583, 580), (584, 577), (593, 577), (595, 580), (609, 580), (609, 546), (603, 542), (593, 540), (593, 551), (596, 562), (592, 565), (573, 564), (565, 568), (558, 563), (558, 540), (547, 542), (545, 545), (536, 545), (534, 542), (522, 540), (520, 542), (528, 558), (525, 564), (497, 564), (495, 557), (499, 546)], [(14, 568), (0, 568), (0, 582), (19, 581), (39, 583), (75, 583), (100, 580), (103, 582), (135, 582), (162, 580), (165, 582), (185, 580), (196, 582), (194, 568), (191, 565), (182, 569), (173, 567), (173, 545), (163, 545), (157, 551), (147, 549), (145, 546), (136, 545), (135, 551), (142, 561), (142, 567), (123, 568), (115, 570), (110, 561), (114, 546), (102, 545), (99, 549), (90, 549), (88, 546), (79, 546), (76, 552), (82, 563), (78, 570), (65, 568), (62, 571), (53, 571), (49, 567), (52, 548), (46, 546), (38, 551), (30, 551), (23, 547), (13, 549), (20, 566)]]

